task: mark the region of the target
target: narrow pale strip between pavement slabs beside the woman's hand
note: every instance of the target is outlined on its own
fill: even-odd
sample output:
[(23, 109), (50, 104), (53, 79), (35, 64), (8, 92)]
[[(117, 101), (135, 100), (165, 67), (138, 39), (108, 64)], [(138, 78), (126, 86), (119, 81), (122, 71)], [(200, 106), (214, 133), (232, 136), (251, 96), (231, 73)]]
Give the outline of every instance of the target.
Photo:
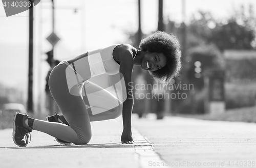
[(138, 156), (140, 168), (154, 167), (157, 163), (162, 166), (157, 167), (170, 167), (164, 160), (161, 159), (160, 155), (154, 150), (152, 143), (147, 137), (140, 134), (140, 132), (133, 128), (134, 137), (134, 150)]

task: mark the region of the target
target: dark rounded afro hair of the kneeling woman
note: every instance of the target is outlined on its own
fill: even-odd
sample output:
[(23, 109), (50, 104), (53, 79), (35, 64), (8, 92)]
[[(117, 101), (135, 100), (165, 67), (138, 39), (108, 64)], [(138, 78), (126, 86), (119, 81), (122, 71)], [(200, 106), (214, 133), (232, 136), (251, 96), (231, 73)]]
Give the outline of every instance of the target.
[(155, 80), (167, 85), (170, 79), (179, 75), (181, 69), (180, 43), (173, 34), (157, 31), (142, 39), (139, 49), (165, 55), (166, 65), (163, 68), (152, 72), (148, 71)]

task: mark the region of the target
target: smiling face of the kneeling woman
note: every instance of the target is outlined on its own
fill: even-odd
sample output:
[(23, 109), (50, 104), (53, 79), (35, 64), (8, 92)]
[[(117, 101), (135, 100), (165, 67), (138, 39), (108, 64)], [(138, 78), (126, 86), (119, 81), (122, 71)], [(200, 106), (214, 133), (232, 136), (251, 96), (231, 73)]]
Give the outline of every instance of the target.
[(146, 52), (141, 63), (141, 68), (148, 71), (156, 71), (166, 65), (166, 57), (163, 53)]

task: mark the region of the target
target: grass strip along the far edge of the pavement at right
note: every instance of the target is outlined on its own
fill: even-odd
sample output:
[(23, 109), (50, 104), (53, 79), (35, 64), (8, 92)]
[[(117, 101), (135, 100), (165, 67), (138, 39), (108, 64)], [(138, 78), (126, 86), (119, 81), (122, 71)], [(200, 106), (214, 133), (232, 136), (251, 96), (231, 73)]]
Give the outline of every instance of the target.
[(185, 115), (178, 114), (179, 117), (196, 118), (201, 120), (214, 120), (214, 121), (241, 121), (256, 123), (256, 106), (244, 107), (236, 109), (228, 109), (221, 115)]

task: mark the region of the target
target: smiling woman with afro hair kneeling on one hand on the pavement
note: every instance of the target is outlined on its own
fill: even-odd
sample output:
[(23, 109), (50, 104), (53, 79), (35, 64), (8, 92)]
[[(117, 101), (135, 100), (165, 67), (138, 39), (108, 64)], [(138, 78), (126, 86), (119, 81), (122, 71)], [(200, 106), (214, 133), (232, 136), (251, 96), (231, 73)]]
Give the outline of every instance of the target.
[[(51, 116), (47, 118), (50, 122), (47, 122), (16, 113), (13, 124), (14, 143), (20, 147), (27, 146), (30, 132), (34, 129), (54, 136), (62, 144), (87, 144), (92, 136), (91, 121), (114, 119), (121, 114), (121, 142), (133, 143), (133, 95), (129, 94), (132, 90), (129, 83), (132, 82), (133, 66), (147, 70), (164, 85), (177, 76), (181, 68), (180, 44), (172, 34), (158, 31), (143, 39), (139, 48), (137, 50), (129, 44), (113, 45), (59, 63), (51, 72), (49, 87), (63, 117)], [(117, 94), (114, 96), (105, 90), (107, 87), (89, 80), (101, 74), (118, 73), (121, 75), (117, 75), (119, 79), (116, 81), (123, 84), (121, 88), (126, 91), (124, 94), (119, 93), (121, 97), (118, 97), (116, 88)]]

